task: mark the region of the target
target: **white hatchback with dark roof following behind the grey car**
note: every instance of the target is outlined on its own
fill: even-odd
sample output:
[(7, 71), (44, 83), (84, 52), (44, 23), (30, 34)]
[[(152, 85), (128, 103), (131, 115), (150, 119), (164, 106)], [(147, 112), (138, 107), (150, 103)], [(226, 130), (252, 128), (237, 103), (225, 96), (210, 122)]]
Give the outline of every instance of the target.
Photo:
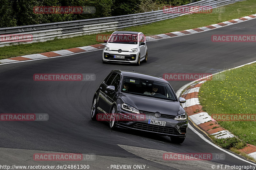
[(148, 47), (145, 35), (141, 32), (115, 31), (105, 41), (102, 62), (133, 63), (140, 65), (148, 61)]

